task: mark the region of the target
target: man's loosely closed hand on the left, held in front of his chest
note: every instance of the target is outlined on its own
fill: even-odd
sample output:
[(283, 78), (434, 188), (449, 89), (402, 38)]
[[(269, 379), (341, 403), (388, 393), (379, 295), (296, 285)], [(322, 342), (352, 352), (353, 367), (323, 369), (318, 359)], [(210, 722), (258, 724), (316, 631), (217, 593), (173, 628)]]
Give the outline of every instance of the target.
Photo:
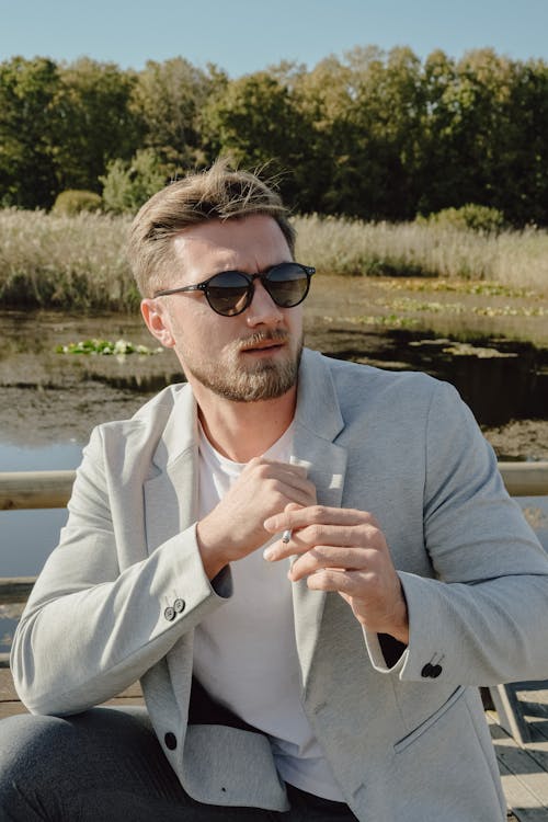
[(289, 503), (305, 507), (316, 503), (316, 488), (307, 479), (306, 468), (262, 457), (251, 459), (219, 504), (197, 524), (208, 578), (266, 543), (272, 534), (265, 530), (264, 521), (281, 514)]

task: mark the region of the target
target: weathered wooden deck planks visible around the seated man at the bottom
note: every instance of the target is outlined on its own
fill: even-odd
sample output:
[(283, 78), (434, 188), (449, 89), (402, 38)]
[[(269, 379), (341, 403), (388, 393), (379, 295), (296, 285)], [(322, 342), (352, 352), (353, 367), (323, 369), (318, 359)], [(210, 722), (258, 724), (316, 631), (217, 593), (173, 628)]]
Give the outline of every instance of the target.
[[(548, 821), (548, 682), (520, 694), (530, 705), (528, 717), (532, 741), (518, 745), (504, 731), (496, 712), (487, 711), (502, 785), (507, 802), (509, 822)], [(132, 686), (106, 705), (142, 705), (138, 684)], [(11, 672), (0, 669), (0, 719), (14, 713), (23, 713), (25, 708), (19, 701)]]

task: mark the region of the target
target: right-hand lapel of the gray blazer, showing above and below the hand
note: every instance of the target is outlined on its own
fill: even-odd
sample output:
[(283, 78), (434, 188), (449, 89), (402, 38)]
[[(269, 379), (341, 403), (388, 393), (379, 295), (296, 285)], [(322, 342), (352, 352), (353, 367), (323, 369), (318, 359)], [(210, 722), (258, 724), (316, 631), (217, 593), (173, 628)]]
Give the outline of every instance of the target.
[[(292, 463), (305, 466), (315, 483), (318, 503), (340, 507), (346, 449), (333, 439), (344, 427), (336, 391), (323, 358), (305, 350), (299, 372), (295, 437)], [(293, 586), (295, 638), (306, 686), (320, 635), (326, 593), (310, 591), (306, 580)]]

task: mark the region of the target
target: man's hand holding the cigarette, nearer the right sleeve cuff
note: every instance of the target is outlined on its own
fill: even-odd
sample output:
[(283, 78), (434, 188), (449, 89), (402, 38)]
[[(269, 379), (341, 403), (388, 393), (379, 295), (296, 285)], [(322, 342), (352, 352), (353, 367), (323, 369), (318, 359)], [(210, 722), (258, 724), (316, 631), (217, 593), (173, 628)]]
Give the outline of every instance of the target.
[(370, 631), (409, 642), (409, 620), (399, 576), (385, 535), (375, 517), (364, 511), (321, 505), (296, 509), (264, 523), (270, 534), (290, 529), (287, 544), (273, 545), (265, 559), (292, 555), (292, 582), (307, 578), (315, 591), (338, 591), (356, 619)]

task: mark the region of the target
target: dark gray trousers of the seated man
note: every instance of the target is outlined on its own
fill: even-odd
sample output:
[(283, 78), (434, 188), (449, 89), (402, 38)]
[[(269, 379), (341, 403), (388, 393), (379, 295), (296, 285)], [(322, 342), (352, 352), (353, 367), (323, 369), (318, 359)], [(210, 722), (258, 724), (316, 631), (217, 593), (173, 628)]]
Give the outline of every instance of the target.
[(202, 804), (187, 796), (144, 708), (72, 717), (20, 715), (0, 722), (2, 822), (335, 822), (343, 802), (287, 786), (292, 809)]

